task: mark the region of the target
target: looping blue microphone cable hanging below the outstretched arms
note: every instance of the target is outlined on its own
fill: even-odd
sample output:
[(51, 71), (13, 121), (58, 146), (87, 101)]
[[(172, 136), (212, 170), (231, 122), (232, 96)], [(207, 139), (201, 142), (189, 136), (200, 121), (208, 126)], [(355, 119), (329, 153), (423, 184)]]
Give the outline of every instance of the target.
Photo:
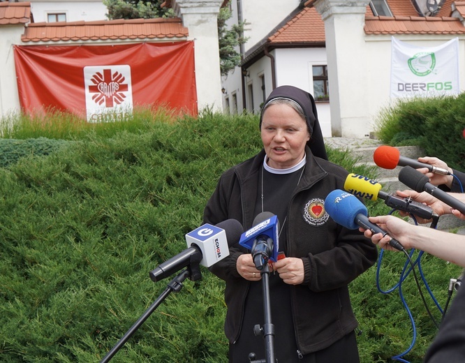
[[(389, 214), (392, 214), (392, 212), (394, 212), (395, 210), (396, 209), (392, 209)], [(411, 215), (411, 217), (413, 218), (413, 220), (415, 222), (415, 225), (418, 225), (418, 223), (417, 223), (417, 221), (415, 219), (415, 216)], [(434, 223), (436, 225), (437, 221), (434, 221)], [(431, 223), (431, 225), (433, 225), (433, 223)], [(418, 266), (418, 271), (420, 272), (420, 276), (422, 277), (422, 281), (425, 283), (425, 286), (426, 286), (426, 288), (427, 288), (427, 290), (429, 292), (429, 295), (433, 299), (433, 301), (436, 304), (438, 310), (441, 311), (441, 313), (443, 313), (443, 311), (441, 309), (441, 306), (439, 306), (436, 298), (434, 297), (433, 292), (429, 288), (429, 285), (428, 285), (428, 283), (426, 281), (426, 278), (425, 278), (425, 274), (423, 274), (423, 271), (422, 271), (422, 268), (421, 268), (421, 258), (422, 258), (422, 255), (423, 255), (424, 251), (420, 251), (418, 253), (417, 258), (415, 259), (415, 262), (413, 262), (412, 256), (413, 256), (413, 253), (415, 253), (415, 249), (411, 249), (411, 251), (409, 253), (406, 250), (404, 250), (403, 252), (405, 253), (407, 260), (404, 263), (404, 267), (402, 268), (401, 275), (399, 277), (399, 281), (394, 286), (392, 286), (392, 288), (388, 288), (388, 290), (383, 290), (381, 288), (381, 284), (380, 284), (379, 280), (380, 280), (381, 262), (383, 260), (384, 251), (385, 251), (384, 249), (381, 249), (379, 257), (378, 257), (378, 266), (376, 267), (376, 288), (382, 294), (388, 294), (388, 293), (390, 293), (390, 292), (392, 292), (392, 291), (394, 291), (396, 289), (399, 290), (399, 296), (401, 298), (402, 305), (404, 306), (404, 309), (406, 309), (408, 317), (409, 317), (409, 319), (411, 321), (412, 331), (413, 331), (413, 337), (412, 337), (411, 345), (403, 353), (400, 353), (398, 355), (394, 355), (391, 358), (392, 358), (392, 360), (397, 360), (399, 362), (409, 363), (407, 360), (404, 360), (403, 357), (404, 357), (404, 355), (409, 353), (412, 350), (413, 346), (415, 345), (415, 341), (416, 341), (416, 338), (417, 338), (417, 329), (416, 329), (416, 326), (415, 326), (415, 320), (413, 319), (411, 310), (409, 309), (408, 304), (406, 302), (406, 299), (404, 297), (404, 292), (402, 291), (402, 283), (404, 283), (407, 276), (411, 272), (413, 273), (413, 278), (414, 278), (415, 284), (416, 284), (416, 286), (418, 288), (418, 292), (420, 292), (420, 297), (422, 299), (423, 304), (425, 305), (425, 309), (427, 310), (427, 313), (428, 313), (429, 317), (431, 318), (431, 321), (434, 323), (436, 328), (439, 329), (439, 325), (436, 322), (436, 319), (432, 315), (431, 311), (429, 310), (429, 307), (428, 307), (428, 304), (426, 302), (425, 296), (423, 295), (422, 288), (420, 286), (420, 282), (418, 281), (418, 276), (415, 273), (415, 265)]]

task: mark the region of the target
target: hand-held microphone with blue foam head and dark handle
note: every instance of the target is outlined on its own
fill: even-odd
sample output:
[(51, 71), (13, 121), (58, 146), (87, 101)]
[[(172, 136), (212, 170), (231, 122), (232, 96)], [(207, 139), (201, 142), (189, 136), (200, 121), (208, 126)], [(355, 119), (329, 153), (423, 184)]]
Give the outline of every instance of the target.
[[(357, 230), (360, 226), (366, 230), (371, 230), (373, 234), (381, 232), (383, 237), (388, 235), (388, 232), (368, 220), (367, 207), (355, 195), (346, 191), (336, 189), (329, 193), (325, 199), (325, 209), (334, 222), (349, 230)], [(404, 251), (404, 246), (394, 238), (390, 239), (389, 244), (394, 249)]]

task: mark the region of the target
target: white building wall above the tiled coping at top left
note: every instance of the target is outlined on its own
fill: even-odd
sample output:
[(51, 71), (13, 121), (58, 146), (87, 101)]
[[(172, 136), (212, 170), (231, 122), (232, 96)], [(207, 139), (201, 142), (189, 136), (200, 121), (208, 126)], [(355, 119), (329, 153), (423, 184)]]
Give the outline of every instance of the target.
[(34, 22), (47, 22), (48, 13), (65, 13), (67, 22), (108, 20), (107, 7), (101, 0), (29, 0)]

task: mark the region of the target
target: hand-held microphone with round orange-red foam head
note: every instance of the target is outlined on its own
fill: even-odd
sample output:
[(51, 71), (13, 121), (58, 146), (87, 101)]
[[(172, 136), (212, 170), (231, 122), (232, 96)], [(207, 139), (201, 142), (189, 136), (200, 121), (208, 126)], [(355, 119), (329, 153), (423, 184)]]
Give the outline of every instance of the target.
[(415, 169), (428, 168), (429, 172), (436, 174), (452, 175), (449, 170), (401, 156), (399, 149), (387, 145), (381, 145), (374, 151), (373, 160), (376, 165), (383, 169), (394, 169), (396, 166), (408, 165)]

